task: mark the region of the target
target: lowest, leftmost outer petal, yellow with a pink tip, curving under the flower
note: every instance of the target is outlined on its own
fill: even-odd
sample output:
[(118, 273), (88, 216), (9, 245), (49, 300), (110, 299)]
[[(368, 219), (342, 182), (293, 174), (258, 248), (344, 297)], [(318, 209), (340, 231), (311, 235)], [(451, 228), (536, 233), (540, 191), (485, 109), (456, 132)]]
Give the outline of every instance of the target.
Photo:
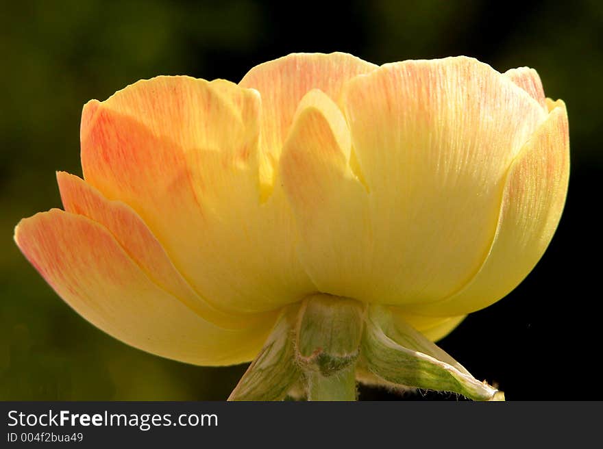
[(141, 270), (106, 228), (53, 209), (21, 220), (16, 243), (73, 309), (136, 348), (199, 365), (254, 357), (273, 320), (226, 330), (201, 318)]

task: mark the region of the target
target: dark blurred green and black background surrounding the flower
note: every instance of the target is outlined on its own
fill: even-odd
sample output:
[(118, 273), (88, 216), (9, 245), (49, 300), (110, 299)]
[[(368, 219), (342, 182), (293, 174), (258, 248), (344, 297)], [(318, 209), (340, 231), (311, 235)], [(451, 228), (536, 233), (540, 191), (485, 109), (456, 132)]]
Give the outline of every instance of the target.
[[(82, 175), (88, 99), (154, 75), (238, 81), (293, 51), (382, 64), (465, 54), (532, 66), (566, 101), (569, 197), (528, 279), (441, 346), (508, 399), (601, 399), (603, 2), (20, 1), (0, 6), (0, 400), (222, 400), (246, 366), (199, 368), (148, 355), (67, 307), (12, 240), (25, 216), (61, 207), (55, 170)], [(397, 399), (363, 388), (362, 399)], [(426, 395), (445, 399), (448, 396)], [(407, 398), (423, 398), (408, 396)], [(450, 397), (456, 399), (455, 396)]]

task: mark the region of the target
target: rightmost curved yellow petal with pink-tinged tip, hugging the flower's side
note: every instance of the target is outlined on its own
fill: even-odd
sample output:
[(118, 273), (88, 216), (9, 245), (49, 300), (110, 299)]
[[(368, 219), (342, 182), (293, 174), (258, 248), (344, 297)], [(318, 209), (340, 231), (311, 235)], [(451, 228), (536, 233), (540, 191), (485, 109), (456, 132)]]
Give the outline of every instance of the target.
[(569, 179), (569, 133), (563, 101), (524, 145), (506, 177), (489, 255), (460, 292), (417, 313), (448, 316), (495, 303), (523, 281), (545, 252), (561, 218)]

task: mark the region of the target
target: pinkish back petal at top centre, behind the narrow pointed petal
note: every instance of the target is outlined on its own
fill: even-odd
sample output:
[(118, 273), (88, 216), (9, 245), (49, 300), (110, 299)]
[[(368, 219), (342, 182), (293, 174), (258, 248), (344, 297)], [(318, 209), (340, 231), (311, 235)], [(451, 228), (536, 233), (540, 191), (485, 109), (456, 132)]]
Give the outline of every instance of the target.
[(312, 89), (319, 89), (338, 101), (345, 81), (377, 67), (347, 53), (293, 53), (249, 70), (239, 85), (255, 88), (262, 95), (260, 173), (268, 191), (302, 97)]

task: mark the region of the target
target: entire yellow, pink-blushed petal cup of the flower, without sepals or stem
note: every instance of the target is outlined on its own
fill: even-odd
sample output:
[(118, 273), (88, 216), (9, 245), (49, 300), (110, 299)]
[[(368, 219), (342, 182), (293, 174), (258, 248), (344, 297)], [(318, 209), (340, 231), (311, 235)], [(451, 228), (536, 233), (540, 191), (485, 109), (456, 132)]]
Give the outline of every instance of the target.
[(254, 359), (316, 293), (443, 337), (532, 270), (569, 173), (563, 101), (469, 57), (156, 77), (88, 102), (81, 142), (16, 243), (95, 326), (199, 365)]

